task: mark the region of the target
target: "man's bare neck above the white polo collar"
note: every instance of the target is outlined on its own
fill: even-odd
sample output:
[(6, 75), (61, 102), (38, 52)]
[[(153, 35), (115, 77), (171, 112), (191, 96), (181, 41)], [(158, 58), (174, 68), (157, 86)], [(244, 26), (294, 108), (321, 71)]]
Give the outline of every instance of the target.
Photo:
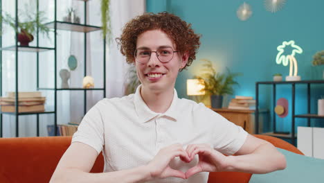
[(166, 112), (173, 99), (173, 88), (159, 92), (150, 92), (148, 89), (141, 88), (141, 96), (147, 107), (153, 112), (164, 113)]

